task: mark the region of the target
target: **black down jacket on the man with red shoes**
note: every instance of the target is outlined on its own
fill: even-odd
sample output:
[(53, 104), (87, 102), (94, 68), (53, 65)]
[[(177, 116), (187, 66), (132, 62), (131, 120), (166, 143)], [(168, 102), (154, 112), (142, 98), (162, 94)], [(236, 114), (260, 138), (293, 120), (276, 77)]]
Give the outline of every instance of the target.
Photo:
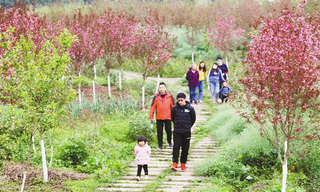
[(195, 111), (188, 101), (181, 107), (178, 103), (171, 110), (171, 121), (174, 124), (174, 132), (187, 133), (195, 122)]

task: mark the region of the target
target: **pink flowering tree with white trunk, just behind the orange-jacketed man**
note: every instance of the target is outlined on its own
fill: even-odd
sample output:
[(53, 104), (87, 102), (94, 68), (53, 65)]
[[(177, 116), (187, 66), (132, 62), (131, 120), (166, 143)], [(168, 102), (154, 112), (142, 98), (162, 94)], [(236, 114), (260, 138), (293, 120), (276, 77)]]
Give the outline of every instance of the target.
[(145, 26), (137, 29), (135, 34), (132, 56), (138, 61), (138, 66), (142, 71), (142, 109), (144, 108), (144, 81), (151, 72), (157, 70), (169, 60), (173, 44), (168, 34), (157, 23), (151, 22), (152, 14), (145, 18)]

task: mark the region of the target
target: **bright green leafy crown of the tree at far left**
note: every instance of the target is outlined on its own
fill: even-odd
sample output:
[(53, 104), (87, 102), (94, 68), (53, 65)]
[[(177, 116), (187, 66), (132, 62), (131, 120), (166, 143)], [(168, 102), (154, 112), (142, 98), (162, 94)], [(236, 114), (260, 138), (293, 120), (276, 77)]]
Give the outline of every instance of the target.
[(66, 48), (75, 37), (63, 30), (56, 39), (45, 41), (37, 50), (31, 37), (27, 40), (21, 36), (13, 45), (10, 35), (10, 31), (0, 34), (1, 46), (7, 49), (0, 58), (0, 76), (6, 76), (1, 80), (0, 100), (5, 104), (14, 103), (7, 107), (11, 111), (19, 110), (20, 114), (16, 118), (14, 115), (18, 114), (12, 114), (11, 118), (16, 121), (6, 126), (19, 129), (20, 133), (35, 132), (36, 128), (44, 132), (56, 127), (65, 113), (65, 104), (74, 96), (72, 79), (65, 74), (66, 64), (70, 62)]

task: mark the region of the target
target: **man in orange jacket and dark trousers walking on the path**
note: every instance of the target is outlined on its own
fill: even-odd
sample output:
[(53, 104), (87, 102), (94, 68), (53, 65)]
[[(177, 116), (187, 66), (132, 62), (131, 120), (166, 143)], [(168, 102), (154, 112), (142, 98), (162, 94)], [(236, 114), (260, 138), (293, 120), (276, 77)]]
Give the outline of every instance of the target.
[(156, 119), (156, 133), (158, 138), (158, 149), (162, 149), (163, 140), (163, 125), (166, 132), (166, 141), (169, 147), (173, 147), (171, 143), (172, 130), (171, 130), (171, 109), (174, 107), (173, 96), (166, 91), (165, 84), (159, 84), (159, 92), (156, 93), (152, 99), (150, 106), (150, 121), (153, 121), (153, 113), (155, 111)]

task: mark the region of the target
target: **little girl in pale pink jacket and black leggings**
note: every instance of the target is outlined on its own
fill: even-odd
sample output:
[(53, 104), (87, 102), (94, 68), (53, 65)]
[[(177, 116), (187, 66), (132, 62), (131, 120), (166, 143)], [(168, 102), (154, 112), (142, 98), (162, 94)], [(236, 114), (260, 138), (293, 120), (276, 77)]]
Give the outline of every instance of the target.
[(138, 142), (134, 147), (135, 162), (138, 165), (136, 181), (141, 180), (141, 171), (143, 167), (144, 179), (148, 179), (148, 164), (150, 161), (151, 148), (148, 146), (144, 136), (138, 137)]

